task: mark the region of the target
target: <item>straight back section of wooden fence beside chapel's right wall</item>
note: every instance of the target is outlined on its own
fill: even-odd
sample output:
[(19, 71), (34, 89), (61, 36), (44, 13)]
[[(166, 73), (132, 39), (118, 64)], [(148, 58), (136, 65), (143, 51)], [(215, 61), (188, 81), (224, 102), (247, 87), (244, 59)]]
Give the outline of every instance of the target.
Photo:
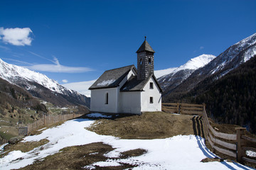
[(203, 115), (203, 104), (162, 103), (162, 106), (171, 113)]

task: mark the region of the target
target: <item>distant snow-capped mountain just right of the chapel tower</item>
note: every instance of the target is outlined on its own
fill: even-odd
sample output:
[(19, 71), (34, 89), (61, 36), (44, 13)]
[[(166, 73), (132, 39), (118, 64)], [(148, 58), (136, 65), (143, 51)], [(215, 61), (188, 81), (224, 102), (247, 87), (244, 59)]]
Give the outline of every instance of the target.
[[(155, 74), (161, 88), (164, 91), (170, 91), (187, 79), (196, 69), (208, 64), (214, 58), (214, 55), (200, 55), (192, 58), (180, 67), (158, 70)], [(162, 74), (165, 75), (161, 76)]]

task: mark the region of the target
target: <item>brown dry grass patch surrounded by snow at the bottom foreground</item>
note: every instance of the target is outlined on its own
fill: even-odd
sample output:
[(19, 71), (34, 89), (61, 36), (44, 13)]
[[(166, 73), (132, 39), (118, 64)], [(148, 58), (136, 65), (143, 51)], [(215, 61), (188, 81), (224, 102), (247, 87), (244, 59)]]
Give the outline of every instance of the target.
[[(28, 165), (21, 169), (83, 169), (85, 166), (90, 166), (95, 162), (105, 162), (109, 158), (105, 157), (104, 154), (112, 151), (113, 149), (114, 148), (112, 148), (110, 145), (106, 145), (102, 142), (65, 147), (60, 149), (60, 152), (50, 155), (43, 160), (37, 160), (34, 164)], [(134, 149), (123, 152), (123, 155), (119, 158), (137, 157), (145, 152), (146, 151), (144, 149)], [(129, 169), (135, 166), (137, 165), (120, 164), (120, 166), (95, 166), (95, 169)]]

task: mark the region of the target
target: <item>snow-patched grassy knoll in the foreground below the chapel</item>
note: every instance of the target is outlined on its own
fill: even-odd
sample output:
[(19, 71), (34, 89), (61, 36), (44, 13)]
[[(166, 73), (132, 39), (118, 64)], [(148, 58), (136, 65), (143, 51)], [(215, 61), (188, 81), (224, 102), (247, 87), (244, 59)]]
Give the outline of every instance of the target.
[[(109, 115), (96, 115), (97, 117), (109, 117)], [(94, 117), (91, 115), (90, 117)], [(132, 135), (137, 126), (143, 127), (146, 123), (151, 123), (155, 118), (154, 128), (142, 131), (149, 135), (149, 138), (139, 139), (140, 136), (128, 137), (129, 140), (110, 136), (110, 131), (125, 130)], [(98, 118), (99, 119), (99, 118)], [(166, 123), (161, 125), (161, 121), (172, 121), (169, 127)], [(100, 123), (104, 125), (115, 125), (115, 120), (89, 120), (75, 119), (68, 120), (63, 125), (58, 125), (46, 130), (39, 130), (38, 135), (25, 137), (18, 145), (6, 148), (6, 154), (1, 154), (1, 169), (252, 169), (236, 162), (218, 162), (220, 159), (209, 151), (200, 136), (194, 134), (193, 116), (174, 115), (170, 113), (145, 113), (139, 115), (117, 118), (119, 122), (117, 129), (112, 128), (106, 135), (98, 135), (87, 129)], [(130, 121), (130, 120), (137, 120)], [(141, 121), (143, 120), (143, 122)], [(175, 121), (176, 120), (176, 121)], [(136, 122), (136, 123), (134, 123)], [(181, 123), (187, 128), (181, 128)], [(169, 128), (179, 130), (191, 129), (184, 135), (171, 135)], [(126, 127), (126, 128), (125, 128)], [(155, 129), (159, 133), (150, 135), (150, 131)], [(167, 138), (158, 139), (161, 130), (169, 131)], [(122, 132), (122, 131), (120, 131)], [(173, 131), (174, 132), (174, 131)], [(181, 132), (182, 133), (182, 132)], [(181, 134), (180, 133), (180, 134)], [(171, 137), (173, 136), (173, 137)], [(126, 137), (124, 137), (126, 138)], [(156, 138), (156, 139), (155, 139)], [(160, 137), (162, 138), (162, 137)], [(146, 140), (147, 139), (147, 140)], [(153, 139), (153, 140), (149, 140)], [(29, 147), (26, 147), (29, 146)], [(9, 150), (8, 150), (9, 149)], [(22, 152), (21, 152), (22, 151)], [(214, 162), (201, 162), (208, 157)], [(184, 164), (186, 162), (186, 164)]]

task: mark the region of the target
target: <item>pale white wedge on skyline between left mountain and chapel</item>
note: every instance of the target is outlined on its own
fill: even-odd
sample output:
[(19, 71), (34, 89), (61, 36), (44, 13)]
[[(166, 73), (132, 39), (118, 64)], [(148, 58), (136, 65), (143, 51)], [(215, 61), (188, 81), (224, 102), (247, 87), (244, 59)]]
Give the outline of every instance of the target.
[(90, 81), (80, 81), (80, 82), (75, 82), (75, 83), (68, 83), (68, 84), (61, 84), (62, 86), (65, 86), (68, 89), (78, 91), (80, 94), (83, 94), (87, 97), (90, 97), (90, 90), (89, 87), (94, 84), (95, 80), (90, 80)]

